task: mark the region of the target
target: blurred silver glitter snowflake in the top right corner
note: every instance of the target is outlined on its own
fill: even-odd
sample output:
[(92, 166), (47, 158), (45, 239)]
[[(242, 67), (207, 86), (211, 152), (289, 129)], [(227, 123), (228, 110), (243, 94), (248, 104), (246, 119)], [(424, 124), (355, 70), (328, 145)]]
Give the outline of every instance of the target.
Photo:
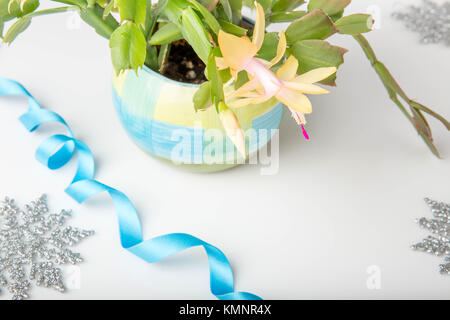
[(423, 0), (419, 6), (408, 6), (392, 16), (419, 33), (421, 43), (442, 42), (450, 46), (450, 1), (439, 5)]

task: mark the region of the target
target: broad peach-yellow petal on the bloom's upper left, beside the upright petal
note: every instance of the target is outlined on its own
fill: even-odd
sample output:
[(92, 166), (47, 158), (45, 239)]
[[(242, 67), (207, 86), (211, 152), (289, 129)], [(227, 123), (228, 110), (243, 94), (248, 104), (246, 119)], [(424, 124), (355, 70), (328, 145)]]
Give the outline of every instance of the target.
[(236, 71), (242, 70), (246, 63), (258, 52), (257, 46), (248, 38), (219, 31), (219, 46), (225, 63)]

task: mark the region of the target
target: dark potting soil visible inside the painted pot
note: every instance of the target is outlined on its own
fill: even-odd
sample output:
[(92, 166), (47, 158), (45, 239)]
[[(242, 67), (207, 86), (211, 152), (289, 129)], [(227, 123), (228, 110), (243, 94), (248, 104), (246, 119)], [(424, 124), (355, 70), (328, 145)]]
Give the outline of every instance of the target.
[(180, 82), (202, 83), (206, 81), (204, 71), (205, 64), (185, 40), (172, 43), (163, 75)]

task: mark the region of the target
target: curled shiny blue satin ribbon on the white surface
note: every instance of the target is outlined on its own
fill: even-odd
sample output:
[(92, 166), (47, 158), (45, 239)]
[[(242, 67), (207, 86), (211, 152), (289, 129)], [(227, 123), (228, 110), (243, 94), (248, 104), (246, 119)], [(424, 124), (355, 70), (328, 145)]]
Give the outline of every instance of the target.
[(47, 168), (55, 170), (64, 166), (74, 155), (78, 156), (78, 168), (71, 184), (65, 190), (73, 199), (82, 203), (100, 193), (108, 192), (119, 219), (120, 242), (123, 248), (147, 262), (158, 262), (177, 252), (202, 246), (208, 256), (211, 292), (221, 300), (260, 300), (248, 292), (235, 292), (233, 271), (226, 256), (215, 246), (186, 233), (171, 233), (143, 240), (139, 215), (128, 197), (117, 189), (94, 180), (94, 157), (88, 146), (74, 138), (73, 132), (58, 114), (42, 109), (33, 96), (18, 82), (0, 78), (0, 96), (22, 95), (28, 97), (28, 111), (20, 117), (30, 131), (47, 122), (65, 126), (67, 134), (57, 134), (45, 139), (36, 151), (36, 158)]

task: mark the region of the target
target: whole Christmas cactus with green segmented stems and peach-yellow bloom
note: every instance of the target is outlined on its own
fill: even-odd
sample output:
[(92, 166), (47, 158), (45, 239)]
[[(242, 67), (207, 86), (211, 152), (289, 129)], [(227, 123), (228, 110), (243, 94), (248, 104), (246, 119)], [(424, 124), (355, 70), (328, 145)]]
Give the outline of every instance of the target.
[[(350, 1), (54, 0), (61, 6), (38, 10), (39, 0), (0, 0), (0, 35), (11, 43), (34, 17), (77, 11), (109, 40), (117, 74), (129, 69), (137, 72), (143, 65), (165, 74), (174, 44), (185, 41), (201, 61), (205, 77), (193, 98), (195, 110), (215, 108), (243, 155), (245, 138), (233, 109), (270, 99), (286, 105), (308, 139), (305, 114), (312, 107), (305, 94), (327, 93), (316, 82), (335, 85), (337, 68), (347, 51), (326, 39), (348, 35), (359, 43), (392, 101), (439, 156), (425, 115), (448, 130), (449, 122), (402, 90), (362, 35), (371, 30), (372, 17), (344, 15)], [(243, 7), (256, 9), (254, 24), (243, 16)], [(9, 28), (4, 28), (9, 21)], [(266, 32), (269, 24), (276, 23), (288, 26), (280, 33)]]

